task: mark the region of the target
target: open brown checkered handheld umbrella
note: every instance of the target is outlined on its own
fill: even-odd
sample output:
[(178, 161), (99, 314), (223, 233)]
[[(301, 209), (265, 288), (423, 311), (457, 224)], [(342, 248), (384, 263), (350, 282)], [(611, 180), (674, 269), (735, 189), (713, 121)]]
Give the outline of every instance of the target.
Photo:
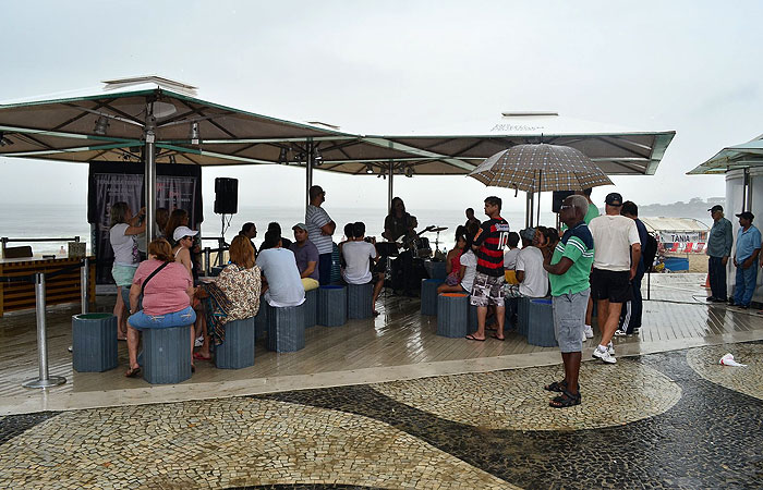
[(611, 184), (589, 157), (568, 146), (517, 145), (482, 162), (470, 176), (493, 187), (529, 193), (582, 191)]

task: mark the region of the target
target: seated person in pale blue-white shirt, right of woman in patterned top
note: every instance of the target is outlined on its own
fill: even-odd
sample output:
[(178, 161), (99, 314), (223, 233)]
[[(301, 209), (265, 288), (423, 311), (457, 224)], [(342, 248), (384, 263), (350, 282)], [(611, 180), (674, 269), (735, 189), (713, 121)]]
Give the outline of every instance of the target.
[(296, 268), (294, 253), (281, 248), (281, 237), (275, 230), (265, 233), (264, 250), (257, 256), (267, 289), (263, 296), (272, 307), (300, 306), (305, 301), (305, 290)]

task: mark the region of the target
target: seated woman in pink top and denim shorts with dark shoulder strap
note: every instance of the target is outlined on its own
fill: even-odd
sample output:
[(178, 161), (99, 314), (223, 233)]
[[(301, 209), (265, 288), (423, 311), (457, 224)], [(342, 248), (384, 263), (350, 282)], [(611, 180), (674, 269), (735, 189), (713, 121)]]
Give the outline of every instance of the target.
[[(165, 238), (148, 244), (148, 260), (142, 262), (130, 287), (130, 311), (128, 318), (128, 378), (141, 375), (137, 364), (138, 331), (143, 329), (168, 329), (192, 326), (196, 314), (191, 307), (193, 280), (182, 264), (175, 262), (172, 248)], [(137, 310), (143, 295), (143, 309)], [(189, 348), (193, 351), (193, 329), (190, 330)], [(191, 363), (193, 368), (193, 363)]]

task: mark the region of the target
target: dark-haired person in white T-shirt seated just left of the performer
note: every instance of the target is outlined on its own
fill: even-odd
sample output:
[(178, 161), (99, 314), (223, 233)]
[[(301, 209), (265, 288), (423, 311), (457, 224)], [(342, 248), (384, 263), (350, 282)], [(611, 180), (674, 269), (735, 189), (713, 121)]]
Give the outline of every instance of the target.
[(384, 285), (384, 273), (372, 271), (373, 265), (379, 259), (379, 254), (373, 243), (365, 241), (365, 223), (362, 221), (352, 224), (352, 238), (349, 238), (348, 236), (348, 241), (342, 244), (342, 257), (346, 264), (342, 279), (348, 284), (374, 284), (371, 309), (376, 316), (379, 314), (376, 311), (376, 299), (378, 299)]

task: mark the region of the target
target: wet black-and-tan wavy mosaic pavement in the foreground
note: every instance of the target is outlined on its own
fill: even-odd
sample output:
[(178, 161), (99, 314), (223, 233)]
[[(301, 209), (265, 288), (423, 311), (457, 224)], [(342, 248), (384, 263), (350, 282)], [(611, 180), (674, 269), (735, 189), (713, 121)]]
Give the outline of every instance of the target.
[[(717, 364), (726, 352), (748, 367)], [(12, 415), (1, 488), (763, 488), (763, 343)]]

